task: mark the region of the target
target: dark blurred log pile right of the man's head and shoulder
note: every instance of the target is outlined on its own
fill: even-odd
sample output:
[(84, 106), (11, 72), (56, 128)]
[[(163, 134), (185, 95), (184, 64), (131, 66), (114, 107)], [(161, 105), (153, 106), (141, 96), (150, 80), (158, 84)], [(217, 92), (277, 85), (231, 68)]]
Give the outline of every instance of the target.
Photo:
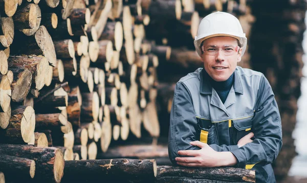
[[(263, 6), (265, 3), (266, 6)], [(251, 67), (264, 73), (278, 103), (283, 146), (274, 162), (278, 180), (287, 176), (296, 155), (292, 132), (302, 77), (302, 47), (307, 4), (305, 1), (252, 1), (256, 21), (250, 39)], [(285, 162), (284, 160), (289, 160)]]

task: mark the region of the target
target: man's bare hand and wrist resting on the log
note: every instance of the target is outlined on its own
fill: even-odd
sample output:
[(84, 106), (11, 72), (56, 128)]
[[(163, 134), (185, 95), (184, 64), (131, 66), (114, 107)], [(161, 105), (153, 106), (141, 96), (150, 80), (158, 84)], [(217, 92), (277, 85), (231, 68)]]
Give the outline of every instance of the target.
[(178, 165), (186, 167), (220, 167), (236, 164), (236, 158), (231, 152), (217, 152), (208, 144), (193, 141), (191, 145), (198, 146), (200, 150), (180, 150), (179, 155), (191, 157), (177, 157), (175, 160)]

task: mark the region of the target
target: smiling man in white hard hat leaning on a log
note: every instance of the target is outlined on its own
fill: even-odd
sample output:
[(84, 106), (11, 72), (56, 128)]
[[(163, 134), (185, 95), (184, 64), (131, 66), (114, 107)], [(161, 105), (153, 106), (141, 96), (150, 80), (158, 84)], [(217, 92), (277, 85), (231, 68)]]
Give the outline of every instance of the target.
[(200, 22), (194, 45), (204, 68), (176, 84), (171, 162), (254, 169), (256, 182), (276, 182), (271, 163), (282, 146), (280, 114), (266, 77), (237, 66), (247, 46), (239, 20), (211, 13)]

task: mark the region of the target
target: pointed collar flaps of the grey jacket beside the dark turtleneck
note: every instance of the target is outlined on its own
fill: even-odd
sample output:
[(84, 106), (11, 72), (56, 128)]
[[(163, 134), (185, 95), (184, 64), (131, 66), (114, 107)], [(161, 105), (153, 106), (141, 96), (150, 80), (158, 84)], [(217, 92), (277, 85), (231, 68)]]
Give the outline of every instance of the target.
[[(201, 71), (201, 79), (200, 79), (200, 92), (202, 94), (212, 94), (212, 86), (208, 80), (209, 74), (203, 68)], [(243, 94), (243, 87), (241, 84), (241, 80), (239, 77), (239, 73), (237, 68), (234, 70), (234, 83), (233, 83), (234, 92)]]

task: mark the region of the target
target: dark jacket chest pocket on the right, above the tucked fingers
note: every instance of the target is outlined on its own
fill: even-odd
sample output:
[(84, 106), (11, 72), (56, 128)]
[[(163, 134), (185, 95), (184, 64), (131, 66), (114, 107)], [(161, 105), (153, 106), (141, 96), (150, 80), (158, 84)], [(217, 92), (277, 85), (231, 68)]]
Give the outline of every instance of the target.
[(235, 128), (234, 133), (232, 133), (232, 138), (236, 139), (235, 144), (237, 144), (244, 136), (252, 132), (252, 117), (253, 116), (248, 116), (232, 120)]

